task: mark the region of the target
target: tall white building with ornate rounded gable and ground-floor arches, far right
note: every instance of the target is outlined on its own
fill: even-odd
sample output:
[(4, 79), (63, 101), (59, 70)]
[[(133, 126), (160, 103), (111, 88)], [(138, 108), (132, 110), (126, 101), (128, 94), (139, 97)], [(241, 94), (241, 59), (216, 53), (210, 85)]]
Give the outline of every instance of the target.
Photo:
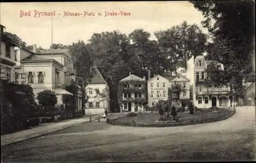
[(217, 68), (224, 70), (223, 64), (217, 61), (205, 60), (203, 55), (197, 56), (195, 59), (192, 57), (187, 61), (186, 77), (190, 79), (190, 97), (193, 99), (195, 106), (199, 108), (230, 107), (230, 87), (216, 88), (205, 85), (207, 79), (205, 69), (210, 63), (214, 63)]

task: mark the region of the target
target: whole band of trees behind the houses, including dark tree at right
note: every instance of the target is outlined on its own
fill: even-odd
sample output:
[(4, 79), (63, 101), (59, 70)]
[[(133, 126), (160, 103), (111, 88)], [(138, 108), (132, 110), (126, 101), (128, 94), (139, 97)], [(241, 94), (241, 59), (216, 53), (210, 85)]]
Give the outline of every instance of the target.
[[(224, 64), (225, 71), (218, 72), (209, 66), (210, 85), (231, 84), (237, 94), (243, 92), (242, 81), (254, 80), (251, 54), (254, 54), (254, 4), (251, 1), (190, 1), (205, 17), (202, 22), (209, 35), (205, 35), (196, 24), (184, 21), (164, 31), (151, 34), (134, 30), (126, 35), (118, 30), (94, 33), (86, 44), (78, 41), (72, 45), (53, 44), (52, 48), (70, 48), (75, 56), (74, 66), (90, 82), (92, 65), (98, 67), (110, 85), (111, 108), (118, 108), (118, 81), (129, 74), (147, 76), (147, 70), (162, 75), (175, 71), (177, 67), (186, 68), (191, 56), (202, 55), (207, 51), (207, 59)], [(207, 38), (211, 42), (207, 42)], [(20, 41), (20, 40), (19, 40)], [(211, 72), (218, 73), (211, 73)], [(222, 75), (220, 75), (222, 74)], [(222, 82), (219, 82), (222, 81)]]

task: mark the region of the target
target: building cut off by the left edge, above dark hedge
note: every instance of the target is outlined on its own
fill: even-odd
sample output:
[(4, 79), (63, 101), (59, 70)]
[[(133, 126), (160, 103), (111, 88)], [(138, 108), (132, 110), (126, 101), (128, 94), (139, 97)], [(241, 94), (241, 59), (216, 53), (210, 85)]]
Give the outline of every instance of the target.
[(4, 35), (5, 26), (0, 24), (0, 56), (1, 56), (1, 79), (14, 81), (15, 49), (17, 46), (8, 36)]

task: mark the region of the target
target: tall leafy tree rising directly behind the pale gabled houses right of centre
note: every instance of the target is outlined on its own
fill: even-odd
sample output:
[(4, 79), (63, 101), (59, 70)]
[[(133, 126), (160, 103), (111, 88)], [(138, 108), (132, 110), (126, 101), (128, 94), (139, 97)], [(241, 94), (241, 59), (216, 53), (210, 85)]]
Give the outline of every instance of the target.
[(186, 61), (192, 56), (202, 55), (205, 51), (206, 35), (196, 24), (188, 25), (184, 21), (166, 31), (155, 33), (159, 47), (170, 71), (176, 71), (180, 63), (186, 69)]

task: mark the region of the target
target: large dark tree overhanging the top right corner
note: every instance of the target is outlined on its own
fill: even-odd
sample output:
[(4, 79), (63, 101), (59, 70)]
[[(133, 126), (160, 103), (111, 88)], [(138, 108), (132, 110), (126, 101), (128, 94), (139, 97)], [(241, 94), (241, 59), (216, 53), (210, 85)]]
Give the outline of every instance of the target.
[(243, 79), (253, 72), (254, 2), (190, 1), (190, 3), (203, 13), (205, 20), (202, 24), (214, 40), (208, 58), (223, 63), (227, 75), (221, 77), (234, 89), (240, 90)]

